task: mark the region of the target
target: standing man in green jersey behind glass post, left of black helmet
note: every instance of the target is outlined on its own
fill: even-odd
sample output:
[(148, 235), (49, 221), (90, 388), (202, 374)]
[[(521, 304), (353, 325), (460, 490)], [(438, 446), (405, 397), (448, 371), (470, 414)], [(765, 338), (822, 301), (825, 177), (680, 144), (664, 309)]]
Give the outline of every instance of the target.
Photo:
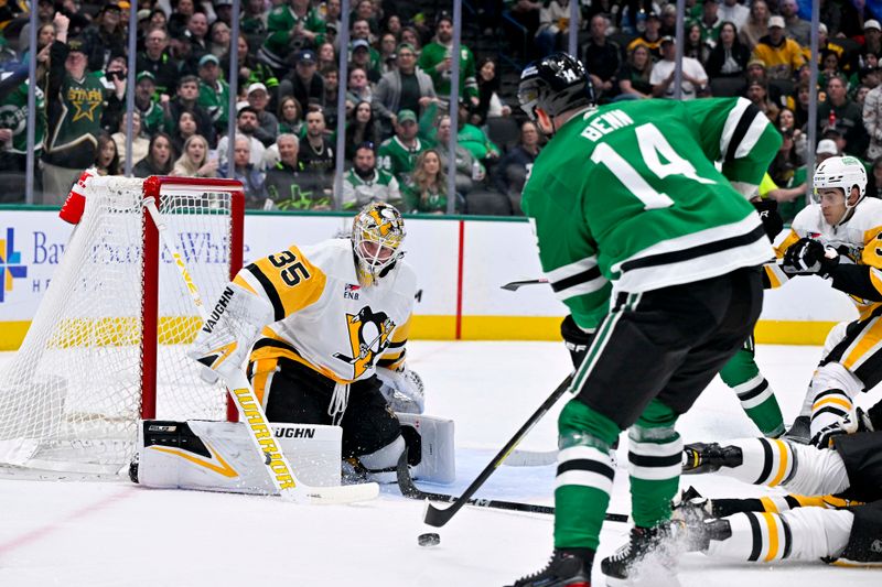
[[(453, 20), (449, 14), (438, 19), (435, 36), (422, 47), (417, 65), (432, 78), (439, 97), (450, 100), (450, 70), (452, 63)], [(477, 105), (477, 72), (475, 57), (465, 45), (460, 45), (460, 94)]]

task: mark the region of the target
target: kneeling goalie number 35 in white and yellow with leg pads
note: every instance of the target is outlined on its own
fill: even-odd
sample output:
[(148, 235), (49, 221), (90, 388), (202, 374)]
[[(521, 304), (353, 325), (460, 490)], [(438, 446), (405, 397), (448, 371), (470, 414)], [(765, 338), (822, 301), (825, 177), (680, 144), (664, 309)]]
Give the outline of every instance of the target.
[[(288, 249), (245, 267), (208, 313), (190, 356), (226, 381), (246, 369), (282, 452), (304, 482), (454, 479), (453, 422), (422, 415), (406, 365), (416, 274), (404, 219), (374, 203), (349, 238)], [(272, 493), (241, 424), (144, 421), (132, 480), (147, 487)], [(342, 464), (342, 466), (341, 466)]]

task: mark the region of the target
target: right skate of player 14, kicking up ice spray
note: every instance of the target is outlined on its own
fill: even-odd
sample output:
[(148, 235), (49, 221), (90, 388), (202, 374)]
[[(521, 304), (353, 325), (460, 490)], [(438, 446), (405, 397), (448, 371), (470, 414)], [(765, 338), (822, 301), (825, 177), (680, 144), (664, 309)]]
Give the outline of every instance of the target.
[(606, 585), (679, 585), (677, 552), (682, 548), (678, 541), (684, 528), (682, 522), (632, 528), (628, 542), (600, 563)]

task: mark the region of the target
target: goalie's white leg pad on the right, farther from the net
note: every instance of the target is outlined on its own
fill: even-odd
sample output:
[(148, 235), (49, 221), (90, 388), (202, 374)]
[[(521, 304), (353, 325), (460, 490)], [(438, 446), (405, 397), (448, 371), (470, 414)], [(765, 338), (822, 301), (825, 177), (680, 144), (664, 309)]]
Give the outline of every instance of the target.
[(398, 414), (398, 421), (413, 478), (452, 483), (456, 479), (453, 421), (426, 414)]

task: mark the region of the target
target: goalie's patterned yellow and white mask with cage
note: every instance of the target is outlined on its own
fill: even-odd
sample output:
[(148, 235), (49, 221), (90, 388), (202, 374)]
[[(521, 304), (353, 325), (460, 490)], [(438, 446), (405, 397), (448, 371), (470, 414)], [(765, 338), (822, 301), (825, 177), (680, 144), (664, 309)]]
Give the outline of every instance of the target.
[(392, 270), (405, 252), (405, 220), (395, 206), (375, 202), (355, 216), (352, 248), (362, 285), (372, 285)]

